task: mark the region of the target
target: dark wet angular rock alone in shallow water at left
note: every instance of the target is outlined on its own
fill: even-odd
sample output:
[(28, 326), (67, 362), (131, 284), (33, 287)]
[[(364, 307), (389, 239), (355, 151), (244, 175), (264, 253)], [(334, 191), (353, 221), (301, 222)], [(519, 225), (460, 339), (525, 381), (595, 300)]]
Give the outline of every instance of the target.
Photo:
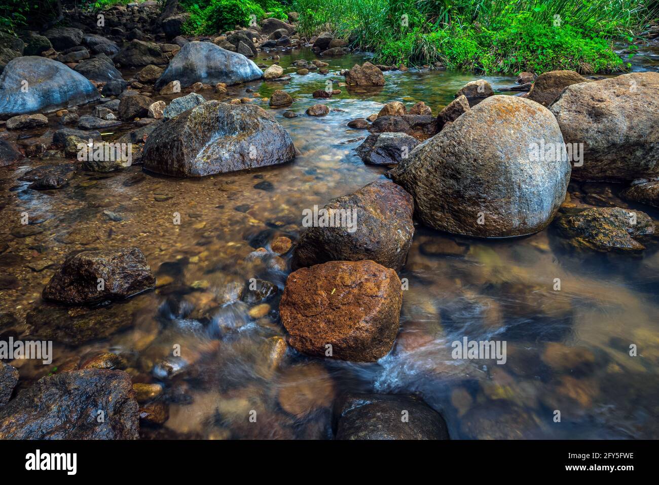
[(43, 298), (80, 305), (129, 298), (155, 286), (146, 257), (136, 247), (82, 251), (67, 258), (43, 288)]

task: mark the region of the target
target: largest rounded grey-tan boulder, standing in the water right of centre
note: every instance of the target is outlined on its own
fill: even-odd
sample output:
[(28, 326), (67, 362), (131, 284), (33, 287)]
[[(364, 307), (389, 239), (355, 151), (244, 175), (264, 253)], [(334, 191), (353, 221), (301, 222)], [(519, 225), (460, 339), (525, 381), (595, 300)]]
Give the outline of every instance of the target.
[(391, 170), (435, 229), (522, 236), (549, 224), (565, 199), (570, 162), (552, 113), (515, 96), (490, 96), (417, 146)]

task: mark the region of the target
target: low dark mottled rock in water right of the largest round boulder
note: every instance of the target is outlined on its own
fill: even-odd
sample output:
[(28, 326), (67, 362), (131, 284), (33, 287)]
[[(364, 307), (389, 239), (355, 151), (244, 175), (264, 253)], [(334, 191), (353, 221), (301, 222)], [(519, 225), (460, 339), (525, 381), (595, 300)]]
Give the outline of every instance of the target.
[(591, 207), (565, 214), (556, 227), (571, 245), (601, 252), (642, 251), (645, 246), (634, 238), (654, 233), (648, 214), (620, 207)]

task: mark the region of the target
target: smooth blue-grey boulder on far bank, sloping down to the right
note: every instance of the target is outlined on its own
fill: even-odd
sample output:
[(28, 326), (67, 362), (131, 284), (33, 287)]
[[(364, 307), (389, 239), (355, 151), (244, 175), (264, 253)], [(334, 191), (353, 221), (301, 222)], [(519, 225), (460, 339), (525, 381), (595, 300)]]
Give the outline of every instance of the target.
[(171, 81), (181, 81), (181, 86), (195, 82), (231, 85), (254, 81), (262, 75), (261, 69), (242, 54), (227, 51), (212, 42), (189, 42), (171, 60), (156, 82), (156, 89)]

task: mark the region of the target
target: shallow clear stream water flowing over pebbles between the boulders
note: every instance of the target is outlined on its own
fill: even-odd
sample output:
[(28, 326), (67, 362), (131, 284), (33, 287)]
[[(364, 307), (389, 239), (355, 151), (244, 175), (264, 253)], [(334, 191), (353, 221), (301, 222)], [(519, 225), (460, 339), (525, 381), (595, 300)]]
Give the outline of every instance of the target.
[[(289, 66), (299, 57), (314, 58), (308, 51), (281, 58), (285, 73), (292, 75), (289, 84), (230, 86), (223, 98), (253, 97), (266, 109), (259, 98), (277, 88), (296, 98), (291, 109), (299, 117), (275, 111), (300, 150), (286, 166), (202, 179), (155, 176), (131, 166), (113, 174), (80, 172), (69, 186), (53, 191), (34, 191), (18, 181), (45, 162), (0, 170), (0, 244), (7, 245), (0, 268), (16, 278), (7, 285), (13, 288), (3, 288), (0, 303), (0, 311), (14, 315), (16, 323), (7, 323), (0, 335), (39, 335), (78, 315), (40, 298), (69, 251), (139, 247), (159, 285), (126, 303), (88, 312), (103, 319), (106, 338), (78, 342), (76, 331), (59, 327), (51, 366), (13, 362), (20, 367), (20, 385), (98, 352), (121, 354), (134, 382), (162, 383), (165, 389), (161, 399), (169, 403), (169, 420), (143, 426), (145, 438), (327, 438), (331, 406), (346, 391), (419, 393), (444, 416), (453, 438), (658, 437), (656, 240), (646, 241), (641, 255), (601, 255), (567, 249), (551, 228), (488, 241), (417, 224), (400, 274), (409, 280), (401, 330), (389, 355), (374, 364), (354, 364), (306, 358), (292, 348), (283, 357), (277, 354), (285, 338), (277, 314), (280, 293), (268, 301), (267, 311), (260, 308), (253, 317), (248, 314), (253, 304), (237, 302), (235, 295), (250, 278), (269, 280), (282, 290), (288, 257), (261, 259), (250, 253), (269, 248), (277, 236), (295, 240), (303, 209), (383, 176), (384, 168), (366, 166), (355, 154), (368, 132), (347, 128), (349, 120), (376, 113), (392, 100), (407, 106), (424, 101), (438, 113), (461, 86), (477, 79), (447, 71), (394, 71), (385, 74), (382, 90), (355, 94), (341, 87), (339, 96), (314, 100), (314, 90), (343, 77), (298, 76)], [(337, 73), (364, 57), (323, 60)], [(259, 61), (272, 62), (268, 55)], [(513, 77), (485, 79), (495, 90), (515, 83)], [(316, 102), (331, 112), (306, 116), (304, 110)], [(39, 133), (43, 130), (32, 134)], [(571, 183), (569, 191), (579, 207), (632, 207), (617, 198), (623, 188)], [(156, 201), (156, 195), (171, 198)], [(649, 207), (635, 209), (659, 216)], [(22, 212), (42, 231), (12, 235)], [(180, 225), (173, 223), (175, 212), (181, 214)], [(437, 254), (438, 245), (451, 242), (457, 243), (454, 255)], [(52, 266), (41, 269), (48, 262)], [(561, 281), (559, 291), (555, 278)], [(24, 323), (30, 312), (36, 315), (32, 325)], [(463, 337), (505, 340), (507, 362), (454, 360), (451, 342)], [(638, 346), (638, 356), (629, 356), (630, 344)], [(180, 357), (173, 356), (176, 345)], [(248, 422), (252, 410), (257, 426)], [(555, 410), (561, 422), (554, 422)]]

